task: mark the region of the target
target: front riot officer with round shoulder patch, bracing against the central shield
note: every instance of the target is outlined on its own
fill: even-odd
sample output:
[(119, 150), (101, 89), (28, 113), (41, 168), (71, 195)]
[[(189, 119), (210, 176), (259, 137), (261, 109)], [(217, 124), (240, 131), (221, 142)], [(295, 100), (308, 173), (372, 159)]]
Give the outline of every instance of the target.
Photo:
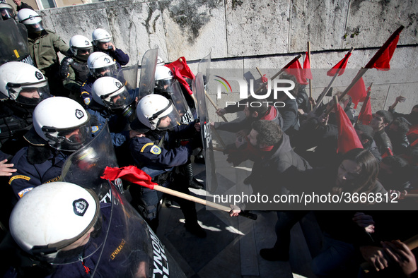
[[(173, 172), (173, 167), (183, 165), (189, 159), (193, 145), (173, 146), (173, 140), (192, 138), (200, 128), (199, 123), (180, 125), (180, 116), (170, 100), (161, 95), (146, 95), (137, 106), (137, 119), (131, 124), (132, 129), (143, 133), (133, 138), (129, 149), (138, 167), (149, 174), (160, 186), (172, 186), (182, 193), (189, 194), (185, 179)], [(131, 186), (132, 190), (135, 187)], [(158, 226), (158, 204), (162, 194), (149, 188), (140, 188), (141, 195), (133, 192), (134, 207), (137, 207), (144, 219), (154, 231)], [(206, 232), (197, 223), (195, 203), (178, 199), (185, 215), (185, 228), (195, 236), (205, 237)]]

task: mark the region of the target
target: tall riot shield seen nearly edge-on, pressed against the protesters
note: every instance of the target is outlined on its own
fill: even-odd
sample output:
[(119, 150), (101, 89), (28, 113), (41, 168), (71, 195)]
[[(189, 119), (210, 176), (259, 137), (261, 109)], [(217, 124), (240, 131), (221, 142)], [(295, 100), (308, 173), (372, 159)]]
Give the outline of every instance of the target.
[(197, 100), (197, 115), (200, 121), (200, 133), (202, 135), (203, 142), (203, 155), (205, 159), (206, 167), (206, 185), (207, 191), (214, 193), (218, 188), (218, 181), (216, 179), (215, 159), (214, 159), (214, 147), (212, 145), (211, 126), (209, 122), (209, 115), (207, 113), (203, 74), (197, 73), (195, 79), (192, 82), (193, 95)]

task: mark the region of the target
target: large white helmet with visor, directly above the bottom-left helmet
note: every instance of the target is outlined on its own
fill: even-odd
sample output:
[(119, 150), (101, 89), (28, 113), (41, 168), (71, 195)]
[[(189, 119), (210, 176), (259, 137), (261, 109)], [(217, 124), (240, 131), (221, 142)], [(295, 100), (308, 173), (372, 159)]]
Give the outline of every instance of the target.
[(91, 140), (90, 114), (68, 97), (50, 97), (37, 104), (33, 127), (57, 150), (74, 152)]

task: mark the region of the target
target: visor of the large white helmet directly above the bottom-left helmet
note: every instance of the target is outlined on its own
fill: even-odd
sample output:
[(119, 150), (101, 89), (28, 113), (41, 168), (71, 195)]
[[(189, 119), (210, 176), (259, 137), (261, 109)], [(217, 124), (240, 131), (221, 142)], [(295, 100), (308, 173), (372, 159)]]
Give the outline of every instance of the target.
[(85, 123), (71, 128), (42, 126), (48, 144), (57, 150), (74, 152), (91, 141), (90, 114)]

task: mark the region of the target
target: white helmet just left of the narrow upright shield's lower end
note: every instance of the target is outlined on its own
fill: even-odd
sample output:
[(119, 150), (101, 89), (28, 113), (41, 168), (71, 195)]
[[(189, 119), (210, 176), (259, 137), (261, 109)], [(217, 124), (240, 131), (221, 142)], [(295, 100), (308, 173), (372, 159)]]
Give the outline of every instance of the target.
[(110, 76), (95, 80), (91, 94), (95, 102), (110, 109), (124, 108), (132, 103), (127, 87), (120, 80)]

